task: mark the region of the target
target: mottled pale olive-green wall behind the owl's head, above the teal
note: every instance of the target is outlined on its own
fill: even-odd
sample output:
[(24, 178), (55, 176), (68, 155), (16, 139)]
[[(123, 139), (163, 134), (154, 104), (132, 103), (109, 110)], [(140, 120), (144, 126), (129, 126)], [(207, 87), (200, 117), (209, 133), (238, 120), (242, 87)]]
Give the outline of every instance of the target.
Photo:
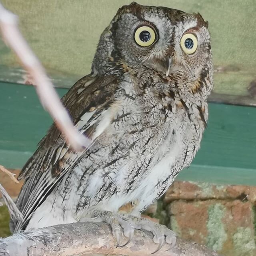
[[(100, 33), (131, 0), (2, 0), (59, 87), (90, 72)], [(140, 4), (200, 12), (209, 21), (215, 65), (212, 101), (256, 105), (255, 0), (138, 0)], [(0, 41), (0, 80), (24, 83), (23, 70)], [(254, 81), (254, 82), (253, 82)], [(253, 85), (252, 90), (248, 86)]]

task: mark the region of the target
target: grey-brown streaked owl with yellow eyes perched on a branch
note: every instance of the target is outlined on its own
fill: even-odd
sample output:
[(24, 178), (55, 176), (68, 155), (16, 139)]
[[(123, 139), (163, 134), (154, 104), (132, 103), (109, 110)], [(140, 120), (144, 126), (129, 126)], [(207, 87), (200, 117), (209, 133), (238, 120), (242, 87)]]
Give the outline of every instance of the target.
[(100, 36), (91, 73), (62, 102), (81, 134), (75, 152), (55, 124), (22, 169), (15, 231), (102, 221), (151, 231), (159, 250), (175, 234), (140, 214), (190, 165), (208, 120), (213, 86), (208, 22), (200, 14), (122, 6)]

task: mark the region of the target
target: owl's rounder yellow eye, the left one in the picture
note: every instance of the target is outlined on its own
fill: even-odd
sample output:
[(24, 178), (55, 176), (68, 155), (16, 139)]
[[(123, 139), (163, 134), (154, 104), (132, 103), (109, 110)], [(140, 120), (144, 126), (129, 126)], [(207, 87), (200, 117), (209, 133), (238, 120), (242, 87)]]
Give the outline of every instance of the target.
[(135, 42), (142, 47), (150, 46), (156, 42), (156, 32), (151, 26), (140, 26), (134, 33)]

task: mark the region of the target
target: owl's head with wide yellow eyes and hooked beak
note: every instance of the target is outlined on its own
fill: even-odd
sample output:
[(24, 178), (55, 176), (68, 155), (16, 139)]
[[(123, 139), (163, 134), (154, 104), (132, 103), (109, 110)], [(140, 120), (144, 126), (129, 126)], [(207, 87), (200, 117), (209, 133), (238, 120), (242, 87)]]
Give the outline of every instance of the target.
[(200, 14), (165, 7), (122, 6), (102, 33), (92, 70), (104, 72), (120, 62), (197, 79), (212, 70), (208, 22)]

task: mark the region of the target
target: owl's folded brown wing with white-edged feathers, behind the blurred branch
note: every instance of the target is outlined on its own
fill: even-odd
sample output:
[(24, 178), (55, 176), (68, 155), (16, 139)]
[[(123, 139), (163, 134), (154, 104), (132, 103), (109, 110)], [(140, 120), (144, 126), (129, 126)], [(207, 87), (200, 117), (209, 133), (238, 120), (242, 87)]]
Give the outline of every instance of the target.
[[(114, 101), (117, 86), (118, 80), (113, 76), (88, 75), (76, 82), (62, 98), (76, 127), (89, 138), (93, 137), (92, 140), (103, 132), (100, 121), (106, 112), (104, 110)], [(97, 129), (98, 125), (100, 129)], [(26, 227), (34, 211), (82, 154), (84, 152), (74, 152), (69, 148), (55, 124), (50, 127), (20, 172), (18, 179), (24, 178), (25, 182), (16, 205), (24, 220), (14, 224), (15, 231)]]

